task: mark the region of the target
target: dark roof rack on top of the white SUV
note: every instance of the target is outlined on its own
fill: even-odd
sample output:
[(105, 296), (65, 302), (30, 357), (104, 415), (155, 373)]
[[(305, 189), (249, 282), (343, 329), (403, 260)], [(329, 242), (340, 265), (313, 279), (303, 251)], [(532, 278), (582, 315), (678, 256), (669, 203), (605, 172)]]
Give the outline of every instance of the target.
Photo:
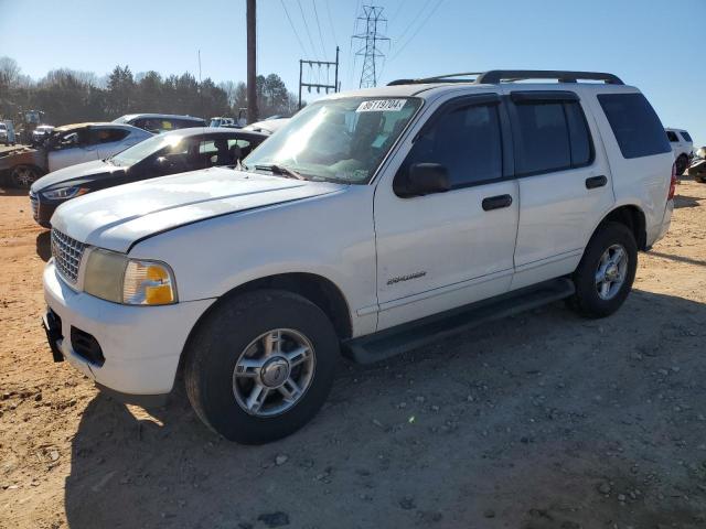
[[(475, 76), (474, 79), (459, 77)], [(460, 74), (437, 75), (419, 79), (396, 79), (387, 86), (420, 85), (428, 83), (473, 83), (496, 85), (499, 83), (527, 80), (527, 79), (556, 79), (559, 83), (578, 83), (578, 80), (602, 80), (607, 85), (624, 84), (620, 77), (601, 72), (569, 72), (564, 69), (490, 69), (488, 72), (466, 72)]]

